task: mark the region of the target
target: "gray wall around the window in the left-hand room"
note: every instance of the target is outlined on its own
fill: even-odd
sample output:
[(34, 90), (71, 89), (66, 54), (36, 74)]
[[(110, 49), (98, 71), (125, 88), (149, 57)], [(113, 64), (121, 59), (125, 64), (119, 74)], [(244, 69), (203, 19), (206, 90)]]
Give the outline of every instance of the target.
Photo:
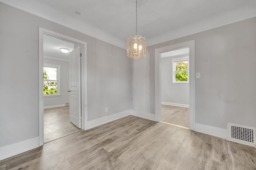
[(44, 58), (44, 64), (60, 66), (60, 97), (44, 98), (44, 107), (63, 105), (65, 102), (69, 102), (69, 62)]

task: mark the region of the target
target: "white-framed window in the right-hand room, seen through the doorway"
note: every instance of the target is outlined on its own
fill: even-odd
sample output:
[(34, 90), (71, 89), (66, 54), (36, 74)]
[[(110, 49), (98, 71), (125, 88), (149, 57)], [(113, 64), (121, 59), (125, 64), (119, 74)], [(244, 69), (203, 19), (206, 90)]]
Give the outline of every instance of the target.
[(172, 59), (173, 83), (189, 83), (189, 57)]

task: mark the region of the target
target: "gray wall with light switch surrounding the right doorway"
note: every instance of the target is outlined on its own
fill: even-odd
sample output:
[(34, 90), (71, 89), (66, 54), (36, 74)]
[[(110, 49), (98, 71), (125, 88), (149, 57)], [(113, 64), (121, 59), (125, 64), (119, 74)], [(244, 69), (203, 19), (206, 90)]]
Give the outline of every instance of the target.
[[(193, 39), (195, 72), (201, 73), (201, 78), (195, 79), (196, 123), (220, 128), (226, 128), (228, 122), (256, 127), (256, 18), (147, 47), (149, 70), (134, 78), (147, 78), (150, 83), (145, 87), (147, 94), (138, 90), (137, 96), (149, 96), (150, 100), (142, 111), (155, 113), (155, 49)], [(145, 68), (134, 72), (140, 69)]]

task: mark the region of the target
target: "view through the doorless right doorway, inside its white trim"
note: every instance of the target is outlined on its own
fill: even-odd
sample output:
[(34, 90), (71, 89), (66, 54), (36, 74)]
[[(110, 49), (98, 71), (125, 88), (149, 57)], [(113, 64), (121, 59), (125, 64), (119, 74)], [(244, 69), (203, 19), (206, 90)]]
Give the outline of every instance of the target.
[(160, 55), (161, 122), (189, 129), (189, 48)]

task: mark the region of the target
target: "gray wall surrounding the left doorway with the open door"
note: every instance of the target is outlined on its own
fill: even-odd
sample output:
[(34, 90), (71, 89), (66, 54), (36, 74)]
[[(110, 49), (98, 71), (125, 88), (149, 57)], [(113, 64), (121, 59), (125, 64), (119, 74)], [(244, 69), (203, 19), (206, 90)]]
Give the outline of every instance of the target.
[(38, 136), (38, 27), (87, 42), (89, 121), (132, 108), (126, 50), (2, 2), (0, 25), (0, 147)]

